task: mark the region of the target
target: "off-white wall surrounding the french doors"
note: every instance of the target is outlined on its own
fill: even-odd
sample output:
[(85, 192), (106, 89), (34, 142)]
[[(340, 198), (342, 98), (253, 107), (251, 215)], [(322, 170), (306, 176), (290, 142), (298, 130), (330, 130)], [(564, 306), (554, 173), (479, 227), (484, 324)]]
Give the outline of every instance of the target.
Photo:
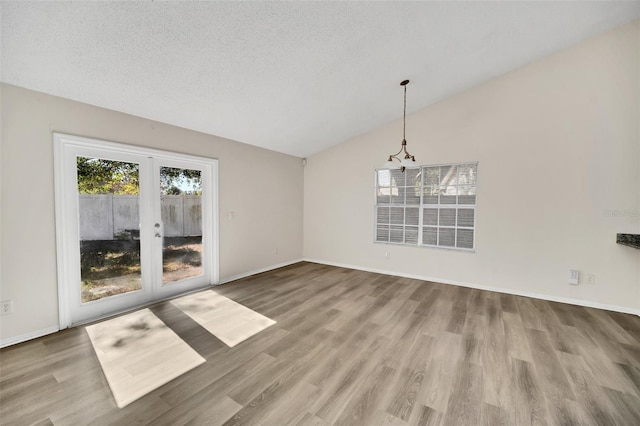
[(14, 301), (14, 313), (0, 317), (0, 340), (58, 324), (52, 132), (219, 159), (221, 280), (302, 257), (299, 158), (15, 86), (0, 89), (0, 299)]

